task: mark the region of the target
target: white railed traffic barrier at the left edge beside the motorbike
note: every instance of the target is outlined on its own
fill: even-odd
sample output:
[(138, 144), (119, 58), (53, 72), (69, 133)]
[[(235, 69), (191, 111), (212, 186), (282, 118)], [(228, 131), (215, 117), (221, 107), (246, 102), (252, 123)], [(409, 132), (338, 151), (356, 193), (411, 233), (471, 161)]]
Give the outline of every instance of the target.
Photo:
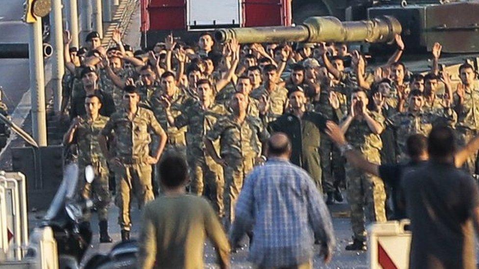
[(20, 172), (0, 171), (0, 236), (6, 260), (20, 261), (28, 245), (27, 191)]

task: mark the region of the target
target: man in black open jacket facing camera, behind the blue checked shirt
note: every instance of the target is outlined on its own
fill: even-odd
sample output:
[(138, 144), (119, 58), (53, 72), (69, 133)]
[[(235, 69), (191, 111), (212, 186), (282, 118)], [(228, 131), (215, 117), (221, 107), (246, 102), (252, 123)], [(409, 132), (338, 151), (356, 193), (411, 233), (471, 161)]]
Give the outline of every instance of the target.
[(326, 118), (306, 111), (306, 96), (301, 87), (288, 92), (290, 110), (269, 123), (269, 132), (283, 132), (292, 142), (291, 162), (308, 171), (322, 193), (319, 157), (320, 133), (326, 127)]

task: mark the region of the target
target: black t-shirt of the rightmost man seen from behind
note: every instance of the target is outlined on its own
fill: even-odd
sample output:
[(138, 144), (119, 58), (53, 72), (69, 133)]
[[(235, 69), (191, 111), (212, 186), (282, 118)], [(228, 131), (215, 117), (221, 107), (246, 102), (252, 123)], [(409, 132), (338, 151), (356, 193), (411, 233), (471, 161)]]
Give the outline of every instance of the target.
[(401, 180), (411, 220), (410, 269), (476, 268), (477, 183), (453, 164), (429, 161)]

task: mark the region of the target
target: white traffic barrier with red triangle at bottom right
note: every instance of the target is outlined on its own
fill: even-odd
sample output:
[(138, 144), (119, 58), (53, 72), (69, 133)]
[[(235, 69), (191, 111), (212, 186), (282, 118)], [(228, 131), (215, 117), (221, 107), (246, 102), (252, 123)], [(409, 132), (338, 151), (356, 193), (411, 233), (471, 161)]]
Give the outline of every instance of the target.
[(369, 227), (371, 269), (408, 269), (411, 232), (409, 220), (374, 223)]

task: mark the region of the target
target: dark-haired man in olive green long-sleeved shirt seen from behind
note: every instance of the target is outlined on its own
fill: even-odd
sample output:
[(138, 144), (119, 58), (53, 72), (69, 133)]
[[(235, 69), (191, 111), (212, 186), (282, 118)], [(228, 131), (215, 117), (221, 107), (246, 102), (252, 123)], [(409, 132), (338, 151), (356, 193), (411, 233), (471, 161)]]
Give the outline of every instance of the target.
[(213, 207), (202, 197), (186, 194), (185, 159), (167, 155), (159, 172), (164, 193), (143, 209), (138, 268), (204, 268), (206, 237), (220, 268), (230, 268), (230, 245)]

